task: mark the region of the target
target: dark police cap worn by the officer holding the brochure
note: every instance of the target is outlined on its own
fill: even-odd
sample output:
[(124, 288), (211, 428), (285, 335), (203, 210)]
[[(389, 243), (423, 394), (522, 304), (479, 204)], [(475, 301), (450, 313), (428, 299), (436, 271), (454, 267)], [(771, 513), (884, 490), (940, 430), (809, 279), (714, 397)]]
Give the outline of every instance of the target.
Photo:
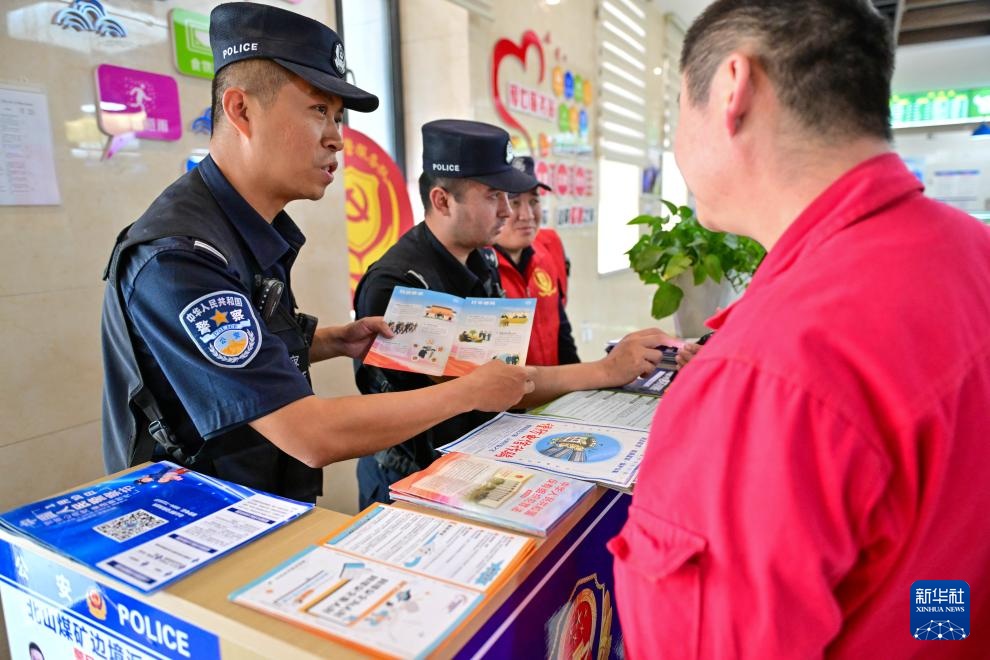
[(210, 13), (213, 66), (241, 60), (278, 62), (314, 87), (339, 96), (344, 107), (371, 112), (378, 97), (344, 80), (344, 44), (337, 33), (306, 16), (253, 2), (229, 2)]

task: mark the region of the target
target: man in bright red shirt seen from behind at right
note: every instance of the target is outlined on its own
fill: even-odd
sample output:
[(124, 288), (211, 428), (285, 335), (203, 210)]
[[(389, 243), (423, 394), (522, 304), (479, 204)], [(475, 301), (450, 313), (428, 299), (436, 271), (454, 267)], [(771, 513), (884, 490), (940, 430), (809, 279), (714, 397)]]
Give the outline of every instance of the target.
[[(990, 230), (891, 152), (892, 51), (865, 0), (718, 0), (685, 36), (698, 218), (768, 254), (609, 544), (632, 657), (990, 654)], [(965, 581), (968, 627), (926, 641), (956, 614), (912, 625), (919, 580)]]

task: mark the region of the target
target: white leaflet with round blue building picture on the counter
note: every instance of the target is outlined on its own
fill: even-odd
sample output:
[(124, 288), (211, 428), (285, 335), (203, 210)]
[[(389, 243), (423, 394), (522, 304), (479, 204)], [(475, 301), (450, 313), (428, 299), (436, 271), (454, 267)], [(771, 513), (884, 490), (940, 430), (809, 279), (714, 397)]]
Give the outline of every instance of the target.
[(439, 448), (628, 490), (646, 452), (642, 429), (501, 413)]

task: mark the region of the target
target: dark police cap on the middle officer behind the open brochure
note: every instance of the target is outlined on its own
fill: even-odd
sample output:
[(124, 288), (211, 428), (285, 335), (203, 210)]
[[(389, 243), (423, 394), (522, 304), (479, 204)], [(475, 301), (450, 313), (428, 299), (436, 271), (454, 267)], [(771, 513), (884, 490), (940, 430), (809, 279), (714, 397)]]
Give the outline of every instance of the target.
[(512, 142), (498, 126), (464, 119), (423, 124), (423, 171), (432, 177), (474, 179), (510, 193), (532, 190), (536, 177), (512, 167)]

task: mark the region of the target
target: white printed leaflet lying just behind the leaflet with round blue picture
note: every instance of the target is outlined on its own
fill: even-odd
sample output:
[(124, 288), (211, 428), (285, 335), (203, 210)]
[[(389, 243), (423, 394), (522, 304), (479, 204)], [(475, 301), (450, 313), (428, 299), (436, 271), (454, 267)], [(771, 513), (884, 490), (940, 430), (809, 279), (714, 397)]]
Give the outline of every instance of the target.
[(534, 408), (529, 414), (627, 426), (646, 431), (650, 428), (659, 403), (659, 398), (646, 394), (617, 390), (582, 390), (570, 392)]

